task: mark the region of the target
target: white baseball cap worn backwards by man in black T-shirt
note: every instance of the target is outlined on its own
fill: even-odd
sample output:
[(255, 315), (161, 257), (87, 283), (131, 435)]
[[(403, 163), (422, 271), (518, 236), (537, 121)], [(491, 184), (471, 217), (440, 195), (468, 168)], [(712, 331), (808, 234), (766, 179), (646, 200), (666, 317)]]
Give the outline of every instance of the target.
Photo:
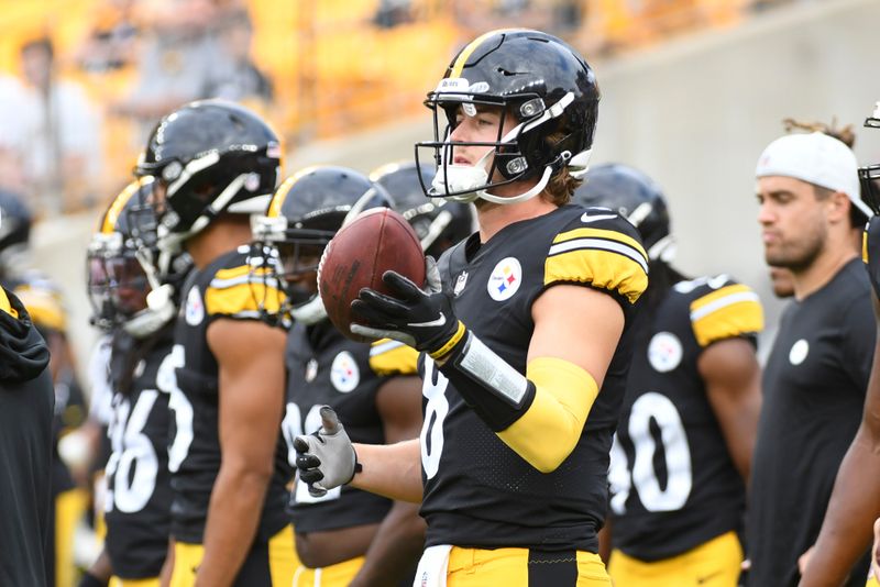
[(820, 132), (787, 134), (763, 149), (755, 176), (793, 177), (842, 191), (853, 206), (870, 218), (873, 212), (861, 201), (858, 167), (853, 149), (833, 136)]

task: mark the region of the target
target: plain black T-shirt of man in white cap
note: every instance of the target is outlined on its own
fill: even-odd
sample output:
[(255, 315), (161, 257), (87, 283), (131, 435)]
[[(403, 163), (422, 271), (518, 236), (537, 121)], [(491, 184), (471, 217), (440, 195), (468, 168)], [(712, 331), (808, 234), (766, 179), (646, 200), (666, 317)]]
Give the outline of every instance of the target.
[(870, 285), (858, 259), (785, 308), (763, 372), (751, 465), (750, 586), (798, 584), (798, 557), (818, 536), (861, 421), (873, 347)]

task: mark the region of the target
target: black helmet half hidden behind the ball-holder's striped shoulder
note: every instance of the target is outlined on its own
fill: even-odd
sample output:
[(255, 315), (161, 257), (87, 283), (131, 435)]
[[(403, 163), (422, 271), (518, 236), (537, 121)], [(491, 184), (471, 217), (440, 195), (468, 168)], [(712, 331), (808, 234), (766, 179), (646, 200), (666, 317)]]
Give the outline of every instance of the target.
[(574, 192), (574, 202), (587, 208), (608, 208), (627, 219), (638, 229), (649, 259), (671, 263), (675, 257), (663, 190), (638, 169), (619, 163), (591, 168)]

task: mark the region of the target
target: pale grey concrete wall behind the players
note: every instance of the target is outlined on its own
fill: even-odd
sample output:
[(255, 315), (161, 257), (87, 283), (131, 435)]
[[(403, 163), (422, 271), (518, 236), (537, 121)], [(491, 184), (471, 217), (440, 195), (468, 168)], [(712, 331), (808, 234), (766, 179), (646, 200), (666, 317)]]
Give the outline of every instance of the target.
[[(780, 303), (762, 261), (755, 163), (782, 134), (783, 118), (833, 115), (857, 125), (860, 160), (880, 160), (880, 131), (861, 129), (880, 99), (878, 23), (877, 0), (801, 1), (730, 31), (593, 64), (603, 90), (594, 163), (628, 163), (660, 181), (680, 242), (678, 265), (692, 274), (729, 273), (754, 286), (770, 325)], [(411, 158), (413, 143), (430, 136), (429, 124), (426, 114), (309, 145), (292, 154), (287, 171), (315, 163), (369, 171)], [(37, 264), (68, 292), (80, 357), (94, 337), (86, 322), (84, 257), (96, 223), (91, 215), (73, 217), (43, 224), (35, 236)]]

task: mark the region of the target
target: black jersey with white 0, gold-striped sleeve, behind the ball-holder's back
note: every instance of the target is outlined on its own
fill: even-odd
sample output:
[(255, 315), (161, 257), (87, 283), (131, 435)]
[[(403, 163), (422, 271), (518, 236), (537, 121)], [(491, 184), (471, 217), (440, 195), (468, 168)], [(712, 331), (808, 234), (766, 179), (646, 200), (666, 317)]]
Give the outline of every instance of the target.
[(616, 549), (659, 561), (740, 530), (745, 481), (697, 361), (718, 341), (754, 343), (762, 328), (758, 296), (724, 275), (676, 284), (639, 319), (608, 473)]

